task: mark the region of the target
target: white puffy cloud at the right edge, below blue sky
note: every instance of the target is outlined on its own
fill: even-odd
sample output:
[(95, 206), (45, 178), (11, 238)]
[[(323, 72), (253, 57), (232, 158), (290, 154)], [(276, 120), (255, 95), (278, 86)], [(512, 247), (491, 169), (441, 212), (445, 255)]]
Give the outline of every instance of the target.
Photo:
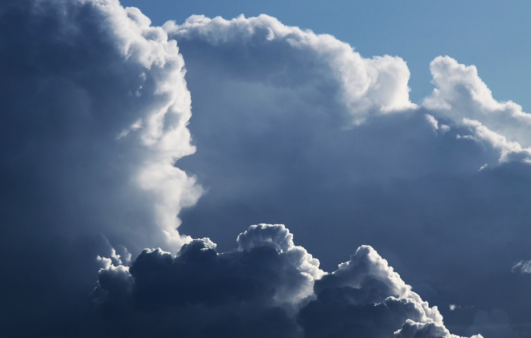
[(529, 161), (531, 115), (512, 101), (496, 101), (475, 66), (439, 56), (430, 63), (430, 70), (436, 88), (424, 100), (424, 107), (470, 127), (476, 140), (500, 151), (501, 162)]

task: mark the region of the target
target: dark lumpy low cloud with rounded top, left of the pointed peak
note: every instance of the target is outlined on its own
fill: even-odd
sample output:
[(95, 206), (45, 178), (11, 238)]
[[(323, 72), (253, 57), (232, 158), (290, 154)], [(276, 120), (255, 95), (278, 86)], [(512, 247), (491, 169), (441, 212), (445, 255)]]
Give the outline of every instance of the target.
[(109, 322), (116, 314), (125, 320), (119, 334), (298, 336), (293, 311), (323, 272), (292, 238), (280, 224), (259, 224), (224, 253), (208, 238), (194, 239), (175, 256), (146, 249), (130, 267), (100, 270), (99, 313)]

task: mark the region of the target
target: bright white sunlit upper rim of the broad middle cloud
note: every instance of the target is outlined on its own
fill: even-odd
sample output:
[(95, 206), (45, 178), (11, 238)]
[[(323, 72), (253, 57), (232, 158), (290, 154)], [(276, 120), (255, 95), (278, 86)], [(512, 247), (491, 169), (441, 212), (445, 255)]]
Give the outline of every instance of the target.
[[(371, 112), (386, 114), (416, 107), (409, 101), (409, 70), (401, 58), (388, 55), (363, 58), (351, 46), (330, 35), (288, 27), (268, 15), (248, 19), (239, 16), (232, 20), (195, 15), (182, 25), (166, 22), (164, 29), (179, 41), (204, 40), (213, 46), (241, 46), (253, 41), (264, 48), (288, 47), (294, 60), (299, 59), (296, 62), (313, 68), (311, 73), (339, 86), (337, 97), (330, 99), (338, 99), (347, 107), (354, 124), (362, 123)], [(279, 61), (281, 70), (285, 61)]]

